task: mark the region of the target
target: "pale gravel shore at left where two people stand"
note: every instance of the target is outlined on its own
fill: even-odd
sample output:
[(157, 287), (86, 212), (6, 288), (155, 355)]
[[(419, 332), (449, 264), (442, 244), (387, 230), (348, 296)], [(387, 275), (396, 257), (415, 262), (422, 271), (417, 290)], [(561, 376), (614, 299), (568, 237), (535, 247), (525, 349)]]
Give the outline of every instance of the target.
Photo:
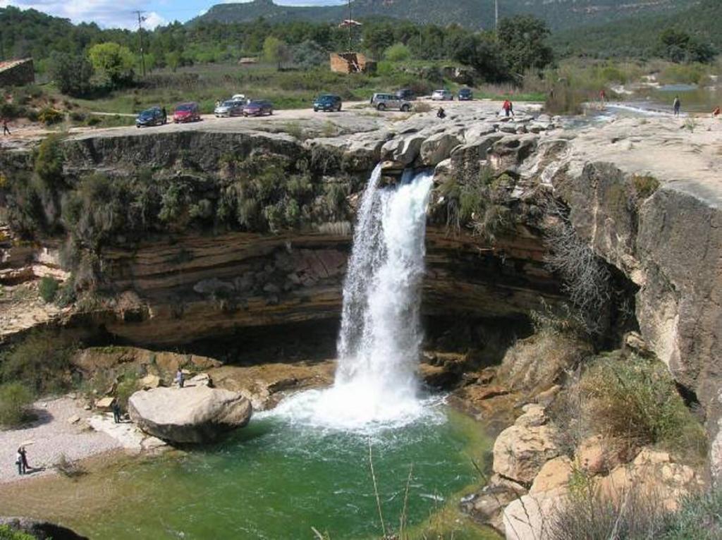
[[(91, 411), (82, 408), (82, 401), (67, 396), (35, 402), (38, 419), (16, 430), (0, 431), (0, 484), (53, 474), (53, 464), (65, 455), (69, 461), (123, 448), (121, 443), (92, 430), (87, 419)], [(77, 422), (69, 420), (78, 417)], [(32, 441), (32, 444), (27, 444)], [(35, 469), (19, 476), (15, 454), (21, 444), (27, 445), (28, 464)]]

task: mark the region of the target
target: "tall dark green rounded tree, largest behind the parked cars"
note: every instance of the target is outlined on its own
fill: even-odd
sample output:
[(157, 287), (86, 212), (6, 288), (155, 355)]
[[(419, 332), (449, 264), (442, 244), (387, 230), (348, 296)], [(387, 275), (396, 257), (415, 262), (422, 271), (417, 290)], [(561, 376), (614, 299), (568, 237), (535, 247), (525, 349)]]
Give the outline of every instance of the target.
[(544, 69), (554, 60), (547, 45), (549, 27), (533, 15), (516, 15), (502, 19), (497, 39), (503, 58), (514, 77), (523, 77), (528, 69)]

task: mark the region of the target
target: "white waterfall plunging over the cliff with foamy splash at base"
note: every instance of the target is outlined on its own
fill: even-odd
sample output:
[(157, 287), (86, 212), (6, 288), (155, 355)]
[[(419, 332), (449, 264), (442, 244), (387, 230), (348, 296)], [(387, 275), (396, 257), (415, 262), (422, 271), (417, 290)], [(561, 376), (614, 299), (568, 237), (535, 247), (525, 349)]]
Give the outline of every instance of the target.
[(358, 430), (406, 424), (422, 411), (415, 369), (432, 175), (405, 173), (393, 188), (379, 182), (380, 165), (358, 212), (334, 386), (294, 396), (277, 414)]

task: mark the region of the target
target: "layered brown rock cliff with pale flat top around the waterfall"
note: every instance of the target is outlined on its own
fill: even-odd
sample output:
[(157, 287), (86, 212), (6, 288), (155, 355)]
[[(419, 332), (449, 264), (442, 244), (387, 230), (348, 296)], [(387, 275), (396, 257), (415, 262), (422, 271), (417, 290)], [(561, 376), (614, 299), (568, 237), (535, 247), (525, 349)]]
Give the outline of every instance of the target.
[[(150, 168), (166, 187), (202, 176), (188, 208), (175, 214), (183, 226), (159, 222), (147, 234), (115, 231), (95, 253), (96, 279), (110, 297), (95, 323), (126, 341), (170, 345), (248, 326), (338, 318), (350, 223), (370, 168), (383, 161), (385, 179), (393, 182), (403, 167), (435, 167), (423, 290), (427, 315), (526, 318), (541, 300), (564, 300), (560, 280), (544, 264), (542, 231), (549, 215), (542, 201), (551, 195), (567, 208), (577, 235), (635, 284), (630, 305), (643, 339), (697, 396), (717, 437), (722, 186), (715, 171), (722, 155), (715, 149), (722, 139), (716, 131), (702, 126), (691, 133), (671, 129), (666, 120), (634, 118), (560, 129), (558, 119), (531, 111), (520, 110), (513, 121), (499, 119), (483, 104), (443, 123), (431, 114), (383, 125), (360, 122), (362, 133), (303, 142), (256, 128), (204, 126), (108, 131), (64, 142), (70, 191), (98, 170), (122, 179)], [(266, 228), (254, 230), (248, 220), (219, 226), (213, 216), (222, 202), (230, 195), (243, 202), (247, 195), (243, 178), (227, 185), (235, 177), (225, 164), (266, 154), (286, 160), (277, 178), (310, 178), (300, 217), (279, 206), (292, 197), (275, 193), (264, 209)], [(1, 159), (8, 175), (31, 161), (19, 151)], [(325, 209), (323, 201), (339, 197), (348, 212)], [(243, 217), (243, 206), (233, 209)], [(279, 216), (295, 226), (274, 227)], [(49, 242), (48, 235), (40, 240), (57, 245), (61, 238), (56, 233)], [(15, 249), (17, 243), (4, 248), (4, 258)], [(716, 440), (716, 466), (721, 449)]]

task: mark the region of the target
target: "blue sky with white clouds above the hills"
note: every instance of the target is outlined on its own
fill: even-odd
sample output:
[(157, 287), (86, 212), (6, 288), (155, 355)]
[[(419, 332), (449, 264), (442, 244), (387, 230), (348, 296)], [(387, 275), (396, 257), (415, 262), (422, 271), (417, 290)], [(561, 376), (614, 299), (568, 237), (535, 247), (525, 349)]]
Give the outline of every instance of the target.
[[(136, 28), (141, 10), (146, 28), (155, 28), (168, 22), (188, 19), (203, 14), (213, 4), (223, 0), (0, 0), (0, 7), (16, 6), (20, 9), (37, 9), (72, 22), (96, 22), (104, 28)], [(309, 6), (337, 4), (337, 0), (274, 0), (277, 4)]]

